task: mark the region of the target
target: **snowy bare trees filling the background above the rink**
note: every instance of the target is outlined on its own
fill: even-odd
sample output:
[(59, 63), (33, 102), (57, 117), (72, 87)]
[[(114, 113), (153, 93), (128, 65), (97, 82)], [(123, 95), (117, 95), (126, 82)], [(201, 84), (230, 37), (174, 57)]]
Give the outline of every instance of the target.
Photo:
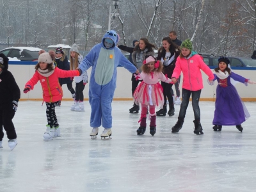
[[(88, 51), (108, 30), (111, 0), (0, 0), (0, 43), (47, 47), (73, 44)], [(176, 31), (197, 52), (250, 56), (255, 49), (256, 0), (122, 0), (111, 29), (119, 44), (147, 37), (161, 45)]]

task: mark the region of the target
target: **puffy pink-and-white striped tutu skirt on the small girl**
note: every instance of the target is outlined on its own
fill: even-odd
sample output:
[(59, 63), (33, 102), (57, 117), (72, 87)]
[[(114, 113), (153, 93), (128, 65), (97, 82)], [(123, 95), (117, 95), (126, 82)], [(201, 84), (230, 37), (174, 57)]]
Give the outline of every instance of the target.
[(147, 84), (142, 81), (136, 88), (133, 99), (136, 105), (154, 105), (162, 109), (164, 104), (163, 87), (160, 83)]

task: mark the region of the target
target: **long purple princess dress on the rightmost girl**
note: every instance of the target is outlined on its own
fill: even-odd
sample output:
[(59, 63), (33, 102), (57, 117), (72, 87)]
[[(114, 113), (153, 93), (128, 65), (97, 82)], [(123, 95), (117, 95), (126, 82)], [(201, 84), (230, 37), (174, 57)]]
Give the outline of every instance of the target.
[[(250, 117), (246, 106), (239, 97), (232, 79), (248, 85), (248, 79), (231, 72), (226, 78), (221, 78), (218, 73), (214, 74), (217, 79), (216, 102), (213, 125), (241, 125)], [(232, 79), (231, 79), (232, 78)]]

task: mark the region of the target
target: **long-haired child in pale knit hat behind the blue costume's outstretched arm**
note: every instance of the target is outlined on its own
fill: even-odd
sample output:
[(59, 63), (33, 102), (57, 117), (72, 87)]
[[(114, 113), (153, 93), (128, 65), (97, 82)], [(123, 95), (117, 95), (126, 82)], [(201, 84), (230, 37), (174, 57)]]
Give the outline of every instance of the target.
[[(75, 70), (83, 61), (79, 54), (77, 44), (73, 44), (70, 48), (70, 70)], [(71, 111), (84, 111), (84, 86), (88, 83), (87, 72), (84, 71), (81, 76), (74, 77), (76, 81), (76, 99), (71, 107)]]

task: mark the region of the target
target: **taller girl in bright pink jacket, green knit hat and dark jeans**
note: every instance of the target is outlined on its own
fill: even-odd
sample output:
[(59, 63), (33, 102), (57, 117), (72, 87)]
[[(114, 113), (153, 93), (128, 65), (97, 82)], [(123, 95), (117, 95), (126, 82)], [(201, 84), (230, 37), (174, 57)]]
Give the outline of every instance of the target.
[(199, 99), (203, 86), (201, 70), (209, 77), (209, 82), (212, 82), (214, 76), (211, 69), (204, 63), (202, 57), (196, 52), (192, 51), (192, 43), (189, 39), (182, 42), (180, 45), (181, 53), (177, 58), (176, 67), (172, 74), (172, 82), (176, 83), (183, 73), (182, 83), (182, 102), (180, 105), (180, 112), (177, 123), (172, 127), (172, 132), (179, 132), (182, 128), (186, 111), (188, 108), (189, 97), (192, 95), (192, 106), (194, 111), (195, 120), (195, 134), (204, 134), (202, 125), (200, 124), (200, 108)]

